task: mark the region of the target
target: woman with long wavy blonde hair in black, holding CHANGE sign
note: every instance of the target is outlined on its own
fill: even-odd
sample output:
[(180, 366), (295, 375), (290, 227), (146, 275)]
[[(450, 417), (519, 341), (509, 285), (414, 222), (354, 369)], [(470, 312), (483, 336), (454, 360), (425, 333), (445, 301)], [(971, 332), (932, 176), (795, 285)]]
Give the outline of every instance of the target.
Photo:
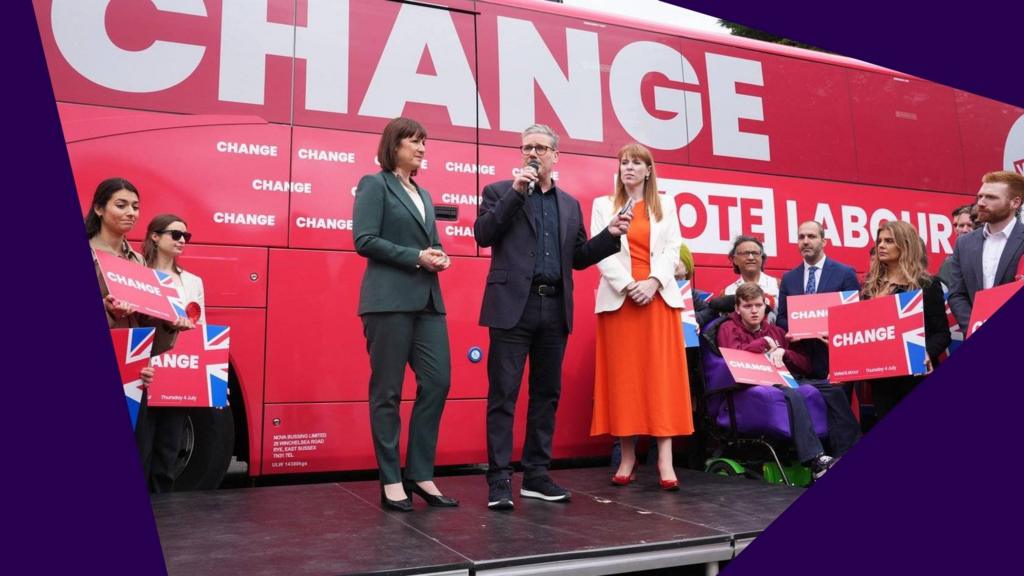
[[(949, 345), (949, 322), (942, 285), (927, 270), (926, 252), (913, 225), (890, 220), (879, 227), (867, 277), (860, 299), (924, 291), (925, 348), (928, 373), (939, 365), (939, 355)], [(924, 376), (895, 376), (871, 380), (874, 413), (881, 420), (924, 379)]]

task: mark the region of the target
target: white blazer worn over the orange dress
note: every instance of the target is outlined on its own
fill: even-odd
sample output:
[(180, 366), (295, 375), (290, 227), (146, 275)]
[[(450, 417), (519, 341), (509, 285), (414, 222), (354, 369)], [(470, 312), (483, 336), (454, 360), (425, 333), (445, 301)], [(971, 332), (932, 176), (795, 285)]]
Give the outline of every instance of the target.
[[(683, 296), (676, 287), (676, 262), (679, 261), (679, 247), (683, 239), (679, 235), (679, 216), (676, 214), (675, 202), (665, 195), (658, 195), (662, 201), (662, 221), (650, 217), (650, 278), (662, 283), (658, 294), (667, 304), (674, 308), (683, 307)], [(614, 216), (611, 197), (603, 196), (594, 200), (590, 216), (590, 232), (597, 234), (608, 228)], [(597, 263), (601, 271), (601, 281), (597, 285), (597, 302), (595, 312), (611, 312), (622, 307), (626, 301), (626, 287), (634, 281), (645, 280), (633, 278), (633, 264), (630, 260), (630, 243), (626, 235), (620, 237), (623, 249)]]

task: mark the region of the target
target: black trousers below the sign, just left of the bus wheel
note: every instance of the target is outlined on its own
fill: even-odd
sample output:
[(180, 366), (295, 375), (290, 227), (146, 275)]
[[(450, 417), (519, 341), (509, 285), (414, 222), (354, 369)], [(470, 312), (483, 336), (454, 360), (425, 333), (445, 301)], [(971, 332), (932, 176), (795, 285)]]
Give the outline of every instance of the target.
[(187, 408), (152, 407), (148, 403), (139, 407), (135, 441), (151, 492), (161, 494), (174, 489), (174, 467), (187, 414)]

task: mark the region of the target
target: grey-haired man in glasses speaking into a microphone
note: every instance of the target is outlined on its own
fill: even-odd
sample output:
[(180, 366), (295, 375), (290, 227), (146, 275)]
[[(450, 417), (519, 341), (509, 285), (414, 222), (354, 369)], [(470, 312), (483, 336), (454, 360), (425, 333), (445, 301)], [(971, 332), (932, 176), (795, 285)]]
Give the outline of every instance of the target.
[(555, 184), (558, 136), (535, 124), (522, 132), (523, 169), (514, 180), (483, 189), (474, 225), (476, 242), (492, 248), (480, 325), (487, 326), (487, 506), (511, 509), (512, 423), (522, 371), (529, 357), (529, 408), (520, 495), (568, 500), (548, 476), (562, 359), (572, 330), (572, 269), (614, 254), (629, 215), (588, 240), (580, 203)]

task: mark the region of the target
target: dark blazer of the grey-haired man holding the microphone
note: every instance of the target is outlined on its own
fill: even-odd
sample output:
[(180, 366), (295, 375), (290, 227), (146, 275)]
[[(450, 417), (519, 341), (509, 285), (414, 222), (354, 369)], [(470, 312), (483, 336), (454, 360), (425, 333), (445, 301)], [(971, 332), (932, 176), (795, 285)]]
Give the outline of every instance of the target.
[[(587, 240), (580, 203), (555, 187), (562, 256), (562, 310), (572, 331), (572, 269), (583, 270), (617, 252), (618, 238), (607, 230)], [(502, 180), (483, 189), (473, 232), (476, 243), (490, 247), (490, 271), (480, 306), (480, 325), (509, 329), (519, 323), (534, 281), (537, 229), (524, 195)]]

